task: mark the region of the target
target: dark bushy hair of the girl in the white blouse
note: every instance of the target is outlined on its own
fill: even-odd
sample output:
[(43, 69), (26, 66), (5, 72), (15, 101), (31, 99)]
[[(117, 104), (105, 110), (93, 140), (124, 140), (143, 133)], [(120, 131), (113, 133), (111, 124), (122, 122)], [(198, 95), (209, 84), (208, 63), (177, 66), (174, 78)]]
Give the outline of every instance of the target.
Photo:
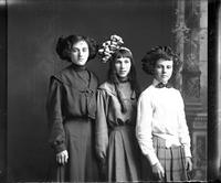
[(155, 66), (160, 58), (166, 61), (173, 61), (172, 76), (173, 78), (180, 71), (182, 62), (179, 60), (178, 54), (172, 52), (169, 46), (156, 46), (145, 54), (141, 60), (143, 71), (149, 75), (155, 75)]

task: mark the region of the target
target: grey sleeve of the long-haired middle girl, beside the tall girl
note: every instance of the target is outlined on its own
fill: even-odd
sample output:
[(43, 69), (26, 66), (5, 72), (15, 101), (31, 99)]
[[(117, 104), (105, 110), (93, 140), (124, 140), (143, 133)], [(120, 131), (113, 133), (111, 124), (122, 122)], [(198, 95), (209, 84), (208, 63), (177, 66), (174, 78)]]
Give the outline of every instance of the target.
[(108, 146), (108, 128), (107, 128), (107, 110), (108, 110), (108, 97), (105, 90), (97, 90), (97, 111), (96, 111), (96, 125), (95, 125), (95, 138), (96, 138), (96, 153), (99, 159), (106, 158), (106, 150)]

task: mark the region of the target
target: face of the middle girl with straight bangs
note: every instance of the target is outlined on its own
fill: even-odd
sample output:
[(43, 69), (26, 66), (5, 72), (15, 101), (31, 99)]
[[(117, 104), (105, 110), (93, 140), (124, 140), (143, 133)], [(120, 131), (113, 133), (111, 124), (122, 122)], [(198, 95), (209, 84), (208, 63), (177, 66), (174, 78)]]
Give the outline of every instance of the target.
[(119, 57), (115, 62), (115, 69), (117, 72), (117, 76), (120, 78), (127, 77), (130, 72), (131, 62), (129, 57)]

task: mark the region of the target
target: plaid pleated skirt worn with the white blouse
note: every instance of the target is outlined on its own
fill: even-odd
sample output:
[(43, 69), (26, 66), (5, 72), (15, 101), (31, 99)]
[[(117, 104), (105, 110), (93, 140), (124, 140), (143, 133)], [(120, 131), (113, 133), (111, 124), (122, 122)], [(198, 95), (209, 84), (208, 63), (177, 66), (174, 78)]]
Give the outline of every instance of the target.
[[(154, 136), (154, 149), (159, 162), (165, 170), (164, 182), (188, 181), (187, 170), (185, 168), (183, 147), (166, 148), (166, 141), (162, 138)], [(146, 160), (145, 160), (146, 159)], [(143, 157), (143, 180), (159, 181), (151, 172), (151, 165), (147, 158)]]

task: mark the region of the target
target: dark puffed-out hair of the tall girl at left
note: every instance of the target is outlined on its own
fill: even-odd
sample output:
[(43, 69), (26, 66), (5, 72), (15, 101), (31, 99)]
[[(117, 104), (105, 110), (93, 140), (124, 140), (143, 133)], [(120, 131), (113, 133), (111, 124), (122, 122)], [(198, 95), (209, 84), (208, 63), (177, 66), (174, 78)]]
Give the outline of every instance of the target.
[(94, 58), (98, 51), (98, 44), (95, 40), (84, 35), (69, 35), (66, 37), (59, 37), (56, 43), (56, 53), (60, 58), (71, 62), (70, 52), (72, 51), (72, 46), (80, 41), (85, 41), (88, 45), (88, 61)]

